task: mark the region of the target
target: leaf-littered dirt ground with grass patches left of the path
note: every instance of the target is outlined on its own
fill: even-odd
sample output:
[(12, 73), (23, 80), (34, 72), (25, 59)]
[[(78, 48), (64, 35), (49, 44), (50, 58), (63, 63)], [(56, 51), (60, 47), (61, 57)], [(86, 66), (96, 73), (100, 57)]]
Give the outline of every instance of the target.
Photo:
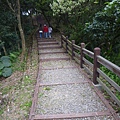
[(4, 79), (0, 78), (0, 120), (28, 120), (38, 70), (37, 40), (33, 40), (24, 70), (18, 70)]

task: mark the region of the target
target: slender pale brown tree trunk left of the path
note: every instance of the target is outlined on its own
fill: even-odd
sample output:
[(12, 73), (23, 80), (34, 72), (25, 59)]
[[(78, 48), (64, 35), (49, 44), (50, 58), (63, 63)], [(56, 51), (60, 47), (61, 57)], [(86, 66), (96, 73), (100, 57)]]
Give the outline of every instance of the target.
[(18, 12), (17, 12), (17, 20), (18, 20), (18, 29), (20, 31), (20, 37), (22, 40), (22, 56), (21, 56), (21, 60), (24, 60), (24, 54), (25, 54), (25, 37), (24, 37), (24, 32), (22, 29), (22, 25), (21, 25), (21, 18), (20, 18), (20, 1), (17, 0), (17, 4), (18, 4)]

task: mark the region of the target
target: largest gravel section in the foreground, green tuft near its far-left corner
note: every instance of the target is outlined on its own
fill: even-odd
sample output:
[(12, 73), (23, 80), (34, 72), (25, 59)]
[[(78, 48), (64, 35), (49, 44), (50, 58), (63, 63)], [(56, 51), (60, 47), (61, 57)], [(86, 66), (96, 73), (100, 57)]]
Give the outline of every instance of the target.
[(106, 111), (88, 83), (40, 87), (36, 113), (69, 114)]

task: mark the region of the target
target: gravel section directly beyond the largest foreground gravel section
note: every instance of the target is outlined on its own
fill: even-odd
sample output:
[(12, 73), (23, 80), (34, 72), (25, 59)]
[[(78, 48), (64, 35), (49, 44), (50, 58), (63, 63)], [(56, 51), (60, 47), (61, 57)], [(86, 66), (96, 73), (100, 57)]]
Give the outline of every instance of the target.
[(85, 81), (77, 68), (42, 70), (39, 78), (44, 84)]

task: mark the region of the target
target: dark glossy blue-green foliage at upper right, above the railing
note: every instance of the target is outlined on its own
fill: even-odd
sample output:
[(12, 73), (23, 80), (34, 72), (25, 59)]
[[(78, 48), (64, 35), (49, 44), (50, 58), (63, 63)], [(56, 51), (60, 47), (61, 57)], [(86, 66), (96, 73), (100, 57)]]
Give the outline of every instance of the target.
[[(93, 46), (99, 46), (108, 55), (120, 50), (120, 3), (117, 0), (108, 2), (103, 11), (97, 12), (92, 23), (86, 24), (86, 36)], [(86, 38), (86, 37), (85, 37)], [(86, 38), (87, 39), (87, 38)]]

